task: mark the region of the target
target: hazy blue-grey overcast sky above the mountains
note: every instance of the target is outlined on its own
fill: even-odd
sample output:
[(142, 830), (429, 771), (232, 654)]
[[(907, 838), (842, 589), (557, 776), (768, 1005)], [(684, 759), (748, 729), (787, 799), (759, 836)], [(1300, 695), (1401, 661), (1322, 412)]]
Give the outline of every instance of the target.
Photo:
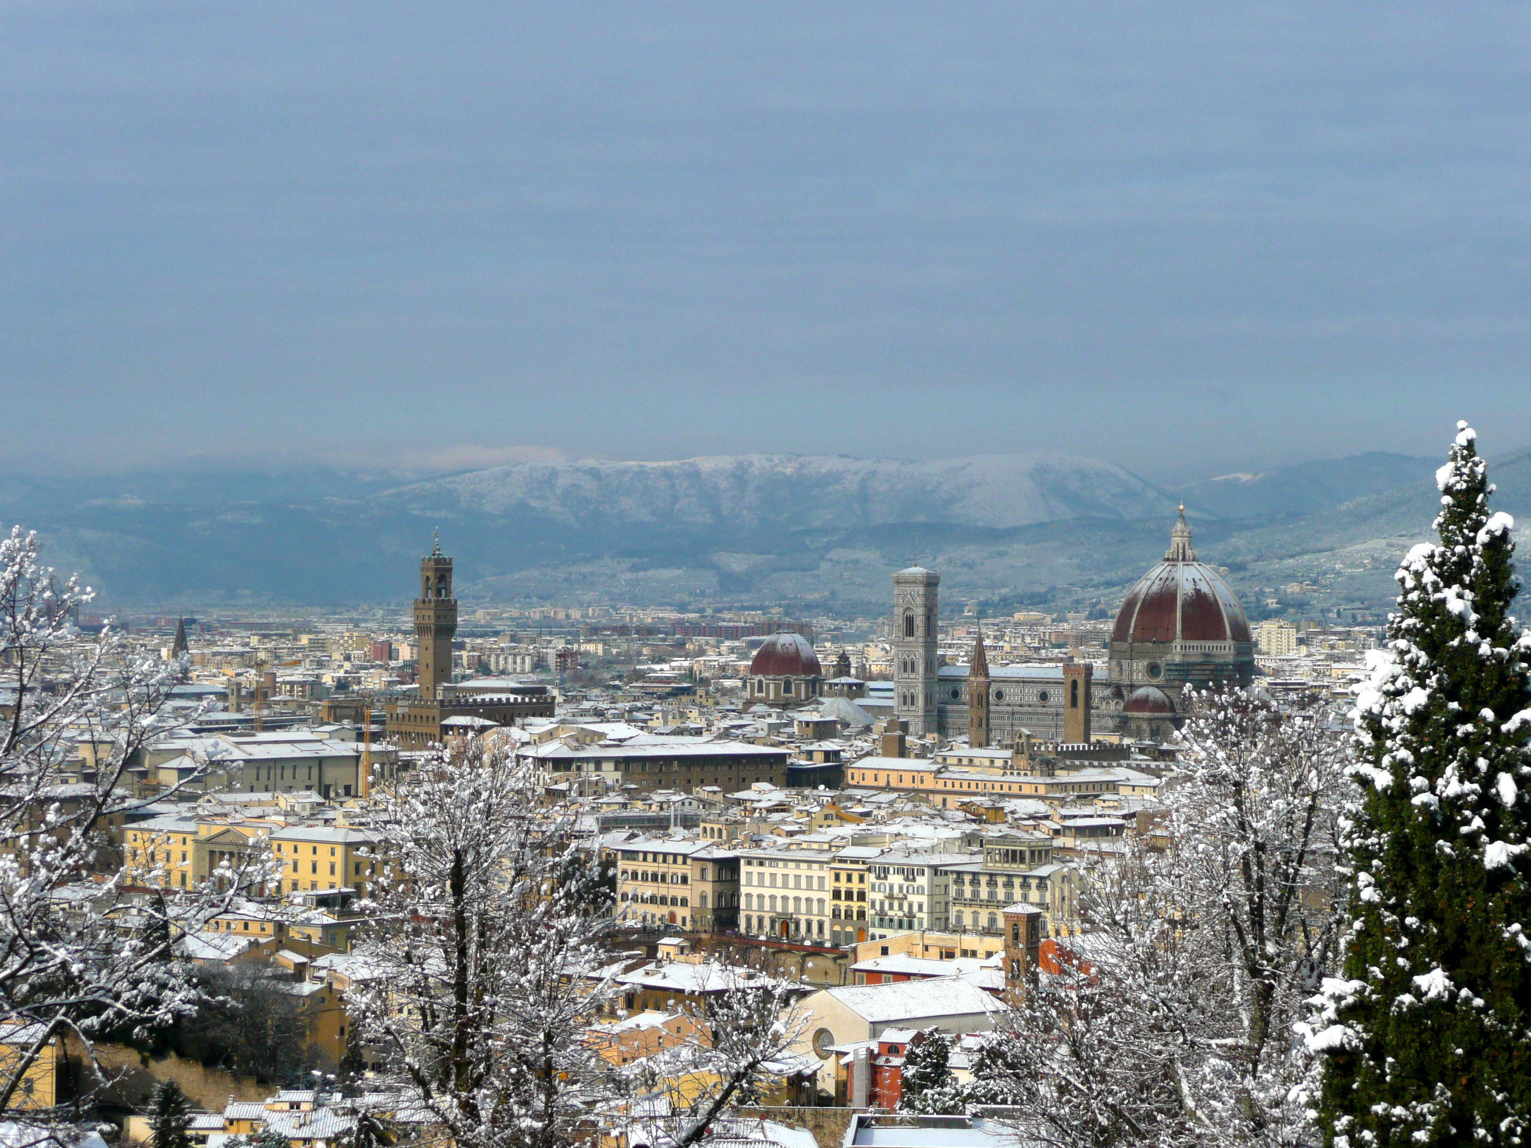
[(0, 468), (1526, 445), (1528, 12), (0, 0)]

